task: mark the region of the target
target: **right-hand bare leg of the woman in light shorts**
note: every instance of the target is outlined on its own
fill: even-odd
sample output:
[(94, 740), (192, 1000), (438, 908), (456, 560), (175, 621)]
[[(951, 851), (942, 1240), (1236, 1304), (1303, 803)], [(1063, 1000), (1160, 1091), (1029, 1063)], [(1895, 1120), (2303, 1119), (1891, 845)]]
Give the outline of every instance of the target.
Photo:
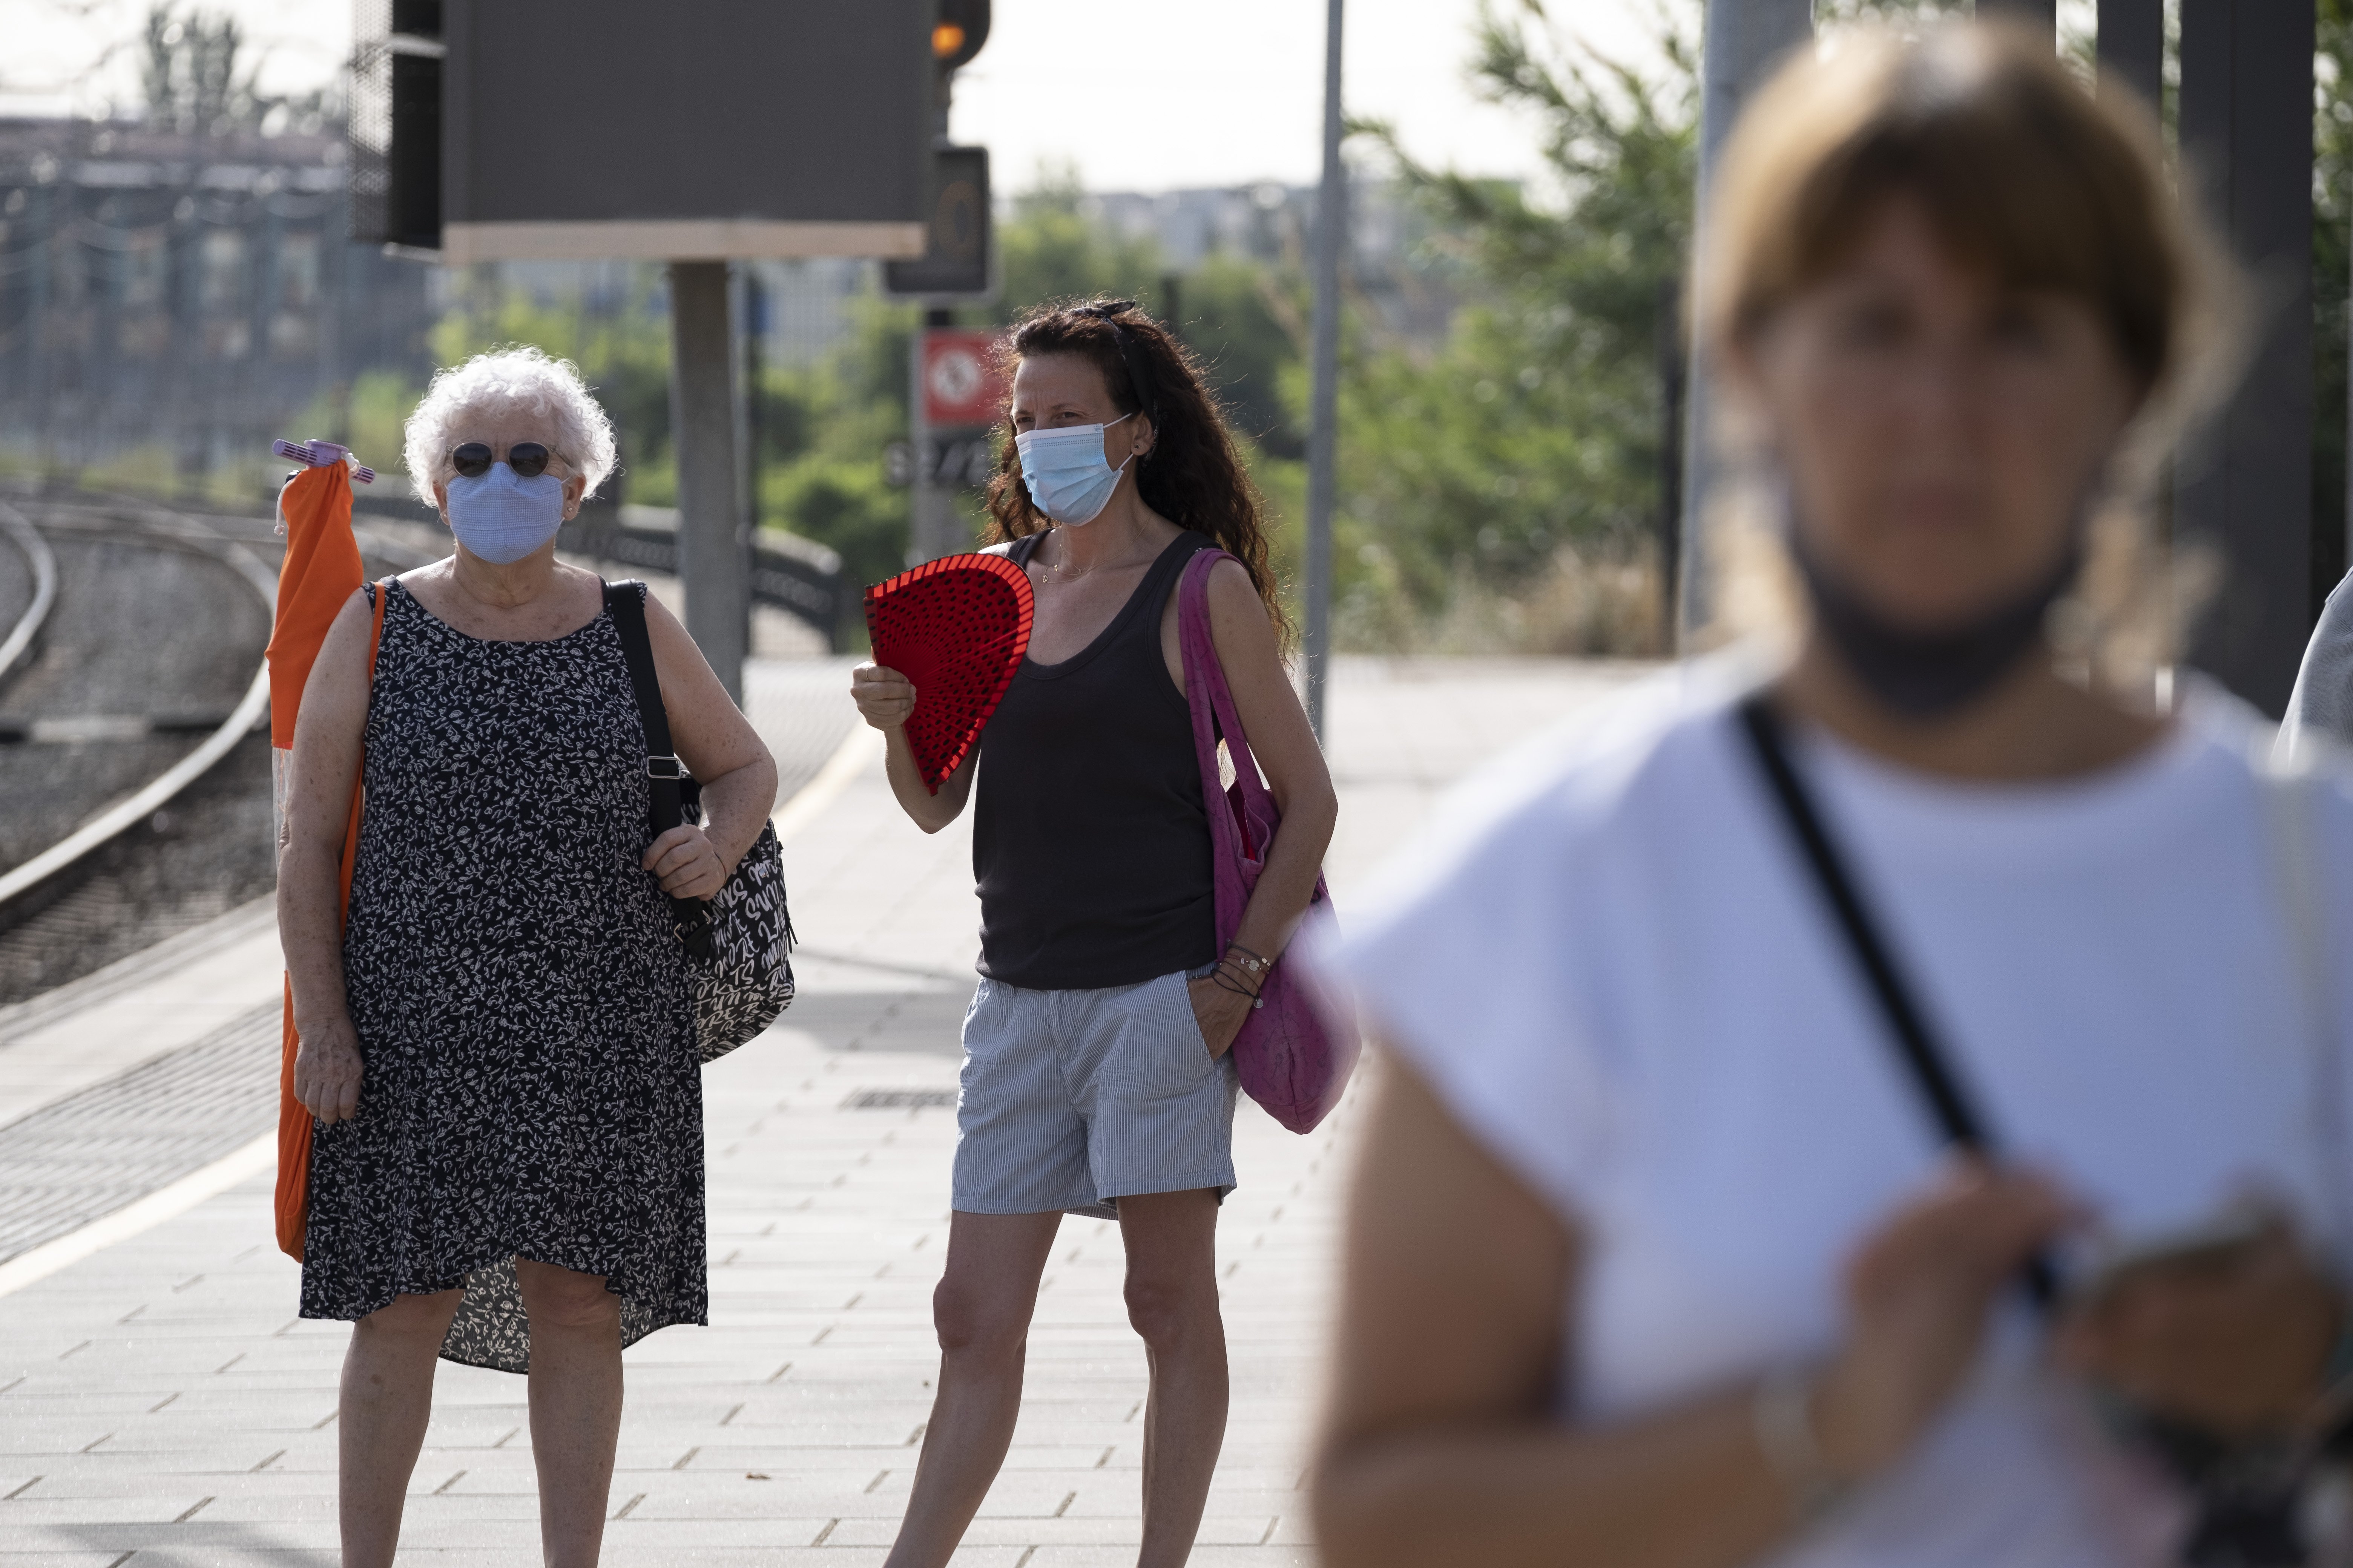
[(1127, 1321), (1144, 1335), (1144, 1549), (1181, 1568), (1226, 1443), (1226, 1321), (1217, 1312), (1217, 1192), (1120, 1199)]

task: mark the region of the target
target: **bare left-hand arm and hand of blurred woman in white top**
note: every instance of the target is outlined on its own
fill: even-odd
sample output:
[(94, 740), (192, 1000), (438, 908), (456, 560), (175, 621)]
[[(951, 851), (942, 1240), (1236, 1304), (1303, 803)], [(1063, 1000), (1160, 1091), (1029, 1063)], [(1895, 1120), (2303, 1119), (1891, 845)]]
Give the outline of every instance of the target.
[[(1581, 1241), (1395, 1056), (1381, 1065), (1313, 1481), (1325, 1561), (1732, 1568), (1779, 1542), (1795, 1519), (1753, 1385), (1607, 1425), (1551, 1415)], [(1866, 1241), (1849, 1338), (1809, 1401), (1840, 1476), (1904, 1453), (2057, 1220), (2042, 1185), (1977, 1171)]]

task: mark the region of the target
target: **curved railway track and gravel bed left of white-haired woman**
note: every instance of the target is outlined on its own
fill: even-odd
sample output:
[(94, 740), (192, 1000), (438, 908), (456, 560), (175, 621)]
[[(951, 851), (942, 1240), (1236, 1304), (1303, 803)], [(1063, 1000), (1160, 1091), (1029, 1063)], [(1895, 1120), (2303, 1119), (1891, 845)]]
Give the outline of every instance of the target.
[[(0, 1004), (259, 898), (271, 856), (268, 520), (0, 496)], [(372, 569), (414, 564), (372, 548)], [(16, 609), (21, 607), (21, 609)]]

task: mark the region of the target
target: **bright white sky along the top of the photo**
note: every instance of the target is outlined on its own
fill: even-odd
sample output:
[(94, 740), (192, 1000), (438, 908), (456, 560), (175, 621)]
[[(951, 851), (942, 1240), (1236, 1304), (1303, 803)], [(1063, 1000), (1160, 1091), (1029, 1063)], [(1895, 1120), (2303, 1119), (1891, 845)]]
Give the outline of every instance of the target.
[[(200, 0), (266, 52), (264, 92), (325, 80), (351, 49), (351, 0)], [(758, 0), (753, 0), (758, 2)], [(1497, 0), (1518, 5), (1520, 0)], [(1640, 54), (1652, 0), (1553, 0), (1562, 31)], [(136, 103), (148, 0), (0, 0), (0, 113)], [(958, 78), (951, 132), (991, 148), (1000, 188), (1075, 165), (1094, 190), (1313, 183), (1322, 167), (1325, 0), (995, 0)], [(1348, 0), (1348, 113), (1398, 125), (1417, 158), (1527, 176), (1520, 115), (1466, 82), (1478, 0)]]

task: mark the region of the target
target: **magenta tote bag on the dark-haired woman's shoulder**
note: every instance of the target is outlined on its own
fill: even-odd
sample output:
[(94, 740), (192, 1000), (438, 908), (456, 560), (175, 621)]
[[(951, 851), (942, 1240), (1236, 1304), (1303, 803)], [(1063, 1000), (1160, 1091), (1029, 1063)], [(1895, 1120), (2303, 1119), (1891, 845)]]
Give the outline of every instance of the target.
[[(1209, 804), (1209, 863), (1217, 875), (1217, 945), (1219, 952), (1242, 926), (1242, 907), (1266, 870), (1266, 846), (1282, 823), (1259, 762), (1249, 755), (1242, 719), (1233, 712), (1226, 670), (1217, 663), (1209, 639), (1209, 569), (1233, 559), (1224, 550), (1200, 550), (1184, 569), (1176, 588), (1176, 635), (1184, 644), (1184, 693), (1193, 708), (1193, 750), (1200, 757), (1200, 795)], [(1217, 741), (1226, 738), (1233, 762), (1233, 785), (1217, 766)], [(1224, 809), (1219, 809), (1224, 802)], [(1315, 877), (1308, 919), (1332, 914), (1332, 896)], [(1233, 1065), (1242, 1091), (1268, 1117), (1294, 1133), (1313, 1131), (1332, 1114), (1358, 1056), (1355, 1020), (1346, 1018), (1332, 997), (1311, 994), (1306, 978), (1278, 957), (1259, 987), (1259, 1006), (1233, 1041)]]

